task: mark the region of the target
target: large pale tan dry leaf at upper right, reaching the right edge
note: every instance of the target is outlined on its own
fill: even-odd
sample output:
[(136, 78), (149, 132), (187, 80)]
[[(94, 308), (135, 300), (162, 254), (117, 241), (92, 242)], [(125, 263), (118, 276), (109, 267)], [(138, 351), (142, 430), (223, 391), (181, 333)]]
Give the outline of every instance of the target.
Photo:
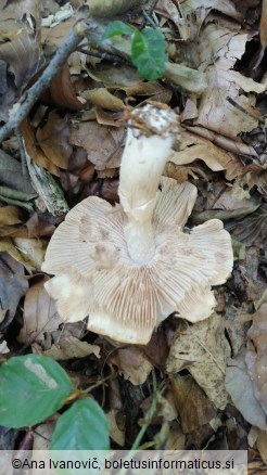
[(259, 118), (256, 95), (240, 90), (259, 93), (266, 86), (232, 70), (245, 51), (247, 34), (230, 21), (213, 18), (217, 24), (209, 22), (200, 34), (200, 68), (206, 72), (208, 88), (201, 97), (196, 124), (236, 138), (257, 127)]

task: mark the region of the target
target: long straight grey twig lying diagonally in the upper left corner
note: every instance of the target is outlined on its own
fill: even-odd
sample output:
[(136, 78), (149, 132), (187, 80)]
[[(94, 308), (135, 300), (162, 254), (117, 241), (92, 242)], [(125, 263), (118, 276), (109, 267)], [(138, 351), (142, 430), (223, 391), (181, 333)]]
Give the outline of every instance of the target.
[(43, 70), (41, 77), (35, 82), (35, 85), (25, 92), (25, 101), (21, 104), (18, 110), (11, 112), (9, 121), (0, 129), (0, 143), (5, 140), (13, 130), (16, 130), (23, 119), (28, 115), (35, 102), (41, 95), (41, 93), (48, 88), (53, 77), (66, 62), (69, 54), (75, 51), (76, 47), (84, 38), (86, 30), (86, 23), (79, 21), (71, 30), (65, 42), (56, 51), (55, 55)]

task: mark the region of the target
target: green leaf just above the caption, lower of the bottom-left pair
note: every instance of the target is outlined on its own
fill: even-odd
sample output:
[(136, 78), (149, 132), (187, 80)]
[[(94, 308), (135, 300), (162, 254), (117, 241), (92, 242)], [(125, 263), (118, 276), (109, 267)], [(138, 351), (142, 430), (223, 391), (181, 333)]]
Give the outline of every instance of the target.
[(107, 420), (100, 406), (91, 398), (73, 403), (56, 422), (52, 450), (107, 450), (110, 448)]

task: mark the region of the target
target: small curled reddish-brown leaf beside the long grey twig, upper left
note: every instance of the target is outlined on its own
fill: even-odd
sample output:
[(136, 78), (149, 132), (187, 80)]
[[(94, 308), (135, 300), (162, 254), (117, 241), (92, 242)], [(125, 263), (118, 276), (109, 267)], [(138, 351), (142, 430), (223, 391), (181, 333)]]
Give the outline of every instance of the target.
[(66, 63), (53, 78), (50, 85), (50, 93), (54, 104), (61, 107), (71, 108), (72, 111), (79, 111), (84, 107), (84, 103), (75, 94), (69, 67)]

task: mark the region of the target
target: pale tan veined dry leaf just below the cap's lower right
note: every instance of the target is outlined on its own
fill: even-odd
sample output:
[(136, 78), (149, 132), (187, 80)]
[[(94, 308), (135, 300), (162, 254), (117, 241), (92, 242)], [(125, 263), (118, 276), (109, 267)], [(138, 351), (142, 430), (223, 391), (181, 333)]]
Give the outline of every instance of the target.
[(177, 373), (187, 368), (208, 398), (220, 409), (228, 402), (225, 390), (225, 368), (230, 346), (225, 336), (221, 319), (213, 313), (208, 319), (183, 323), (170, 347), (167, 371)]

